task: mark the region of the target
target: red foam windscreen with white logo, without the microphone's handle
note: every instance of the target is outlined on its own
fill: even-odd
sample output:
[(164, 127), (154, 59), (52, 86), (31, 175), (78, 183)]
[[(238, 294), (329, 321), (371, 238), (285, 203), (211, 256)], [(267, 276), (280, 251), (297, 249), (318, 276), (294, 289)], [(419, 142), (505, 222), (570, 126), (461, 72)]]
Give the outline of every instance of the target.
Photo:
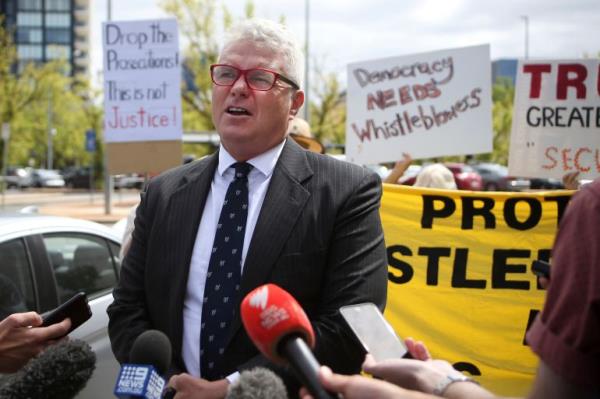
[(241, 316), (254, 345), (275, 363), (286, 363), (278, 353), (283, 338), (297, 335), (314, 347), (315, 334), (306, 313), (294, 297), (275, 284), (250, 291), (242, 301)]

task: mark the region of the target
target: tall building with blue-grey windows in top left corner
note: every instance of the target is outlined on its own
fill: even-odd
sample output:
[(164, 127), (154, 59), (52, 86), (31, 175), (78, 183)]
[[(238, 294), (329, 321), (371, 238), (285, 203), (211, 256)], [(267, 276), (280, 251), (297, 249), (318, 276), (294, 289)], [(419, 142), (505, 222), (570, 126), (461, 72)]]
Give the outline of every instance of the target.
[(4, 28), (13, 33), (18, 62), (62, 59), (69, 75), (89, 74), (90, 0), (0, 0)]

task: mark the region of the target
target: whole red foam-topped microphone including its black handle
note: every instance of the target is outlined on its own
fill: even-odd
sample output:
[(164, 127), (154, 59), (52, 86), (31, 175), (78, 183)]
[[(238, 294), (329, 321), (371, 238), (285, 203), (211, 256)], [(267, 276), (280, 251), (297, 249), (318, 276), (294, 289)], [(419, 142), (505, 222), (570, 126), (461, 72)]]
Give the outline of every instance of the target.
[(248, 336), (263, 355), (274, 363), (290, 364), (315, 399), (335, 398), (319, 381), (320, 365), (310, 349), (315, 346), (315, 334), (294, 297), (274, 284), (262, 285), (246, 295), (241, 316)]

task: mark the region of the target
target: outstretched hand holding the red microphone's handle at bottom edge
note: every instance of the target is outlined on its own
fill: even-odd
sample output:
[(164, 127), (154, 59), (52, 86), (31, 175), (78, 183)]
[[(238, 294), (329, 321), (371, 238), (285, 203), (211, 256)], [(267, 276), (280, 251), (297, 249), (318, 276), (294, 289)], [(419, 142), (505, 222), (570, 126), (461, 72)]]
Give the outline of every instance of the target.
[[(323, 387), (333, 393), (341, 394), (344, 399), (417, 399), (425, 398), (418, 392), (409, 392), (385, 381), (374, 380), (360, 375), (341, 375), (321, 366), (319, 379)], [(306, 388), (300, 390), (302, 399), (313, 399)]]

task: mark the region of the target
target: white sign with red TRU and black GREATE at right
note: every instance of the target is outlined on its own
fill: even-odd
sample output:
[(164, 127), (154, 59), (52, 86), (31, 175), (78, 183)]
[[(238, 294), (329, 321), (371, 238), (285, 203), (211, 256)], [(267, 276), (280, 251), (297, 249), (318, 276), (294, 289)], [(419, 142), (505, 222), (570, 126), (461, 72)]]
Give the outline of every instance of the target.
[(600, 60), (519, 61), (513, 109), (511, 175), (600, 175)]

